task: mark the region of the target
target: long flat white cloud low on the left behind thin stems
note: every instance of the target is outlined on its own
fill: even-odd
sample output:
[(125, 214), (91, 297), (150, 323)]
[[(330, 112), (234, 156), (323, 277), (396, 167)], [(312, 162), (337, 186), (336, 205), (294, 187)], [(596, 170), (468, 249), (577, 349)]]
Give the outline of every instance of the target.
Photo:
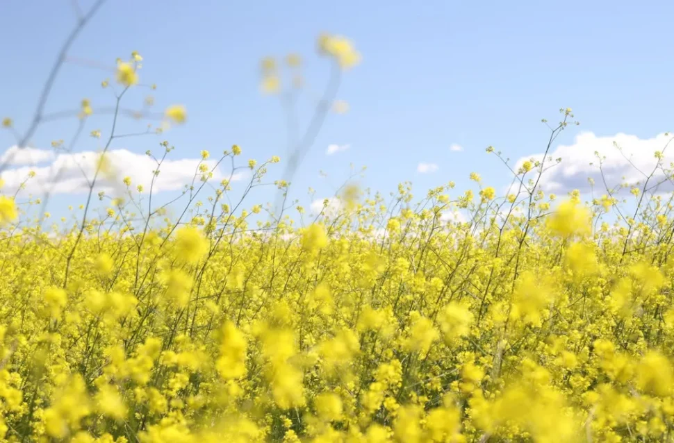
[[(52, 154), (49, 156), (48, 154)], [(14, 165), (21, 165), (4, 170), (0, 176), (5, 181), (5, 188), (16, 190), (24, 181), (26, 185), (24, 192), (39, 194), (49, 191), (51, 194), (79, 194), (88, 192), (90, 180), (93, 178), (97, 169), (97, 162), (100, 153), (95, 151), (83, 151), (80, 153), (58, 153), (54, 155), (51, 151), (42, 149), (32, 149), (31, 156), (33, 160), (40, 159), (42, 165), (31, 167), (24, 166), (20, 153), (13, 160)], [(133, 188), (142, 185), (143, 192), (149, 192), (152, 181), (152, 172), (157, 169), (156, 162), (143, 153), (133, 153), (126, 149), (114, 149), (106, 154), (114, 174), (104, 176), (99, 174), (95, 192), (125, 192), (125, 186), (122, 180), (125, 176), (131, 178)], [(19, 158), (21, 162), (16, 162)], [(172, 160), (167, 158), (159, 168), (159, 175), (156, 177), (153, 186), (153, 192), (175, 191), (183, 189), (184, 185), (192, 183), (192, 179), (197, 172), (201, 158), (182, 158)], [(209, 171), (215, 166), (215, 161), (204, 161)], [(35, 163), (35, 162), (34, 162)], [(28, 178), (28, 174), (33, 171), (35, 177)], [(245, 178), (247, 174), (236, 173), (232, 176), (232, 181), (238, 181)], [(201, 174), (196, 179), (197, 183)], [(229, 178), (229, 172), (222, 172), (219, 168), (213, 170), (213, 181), (220, 181), (222, 178)]]

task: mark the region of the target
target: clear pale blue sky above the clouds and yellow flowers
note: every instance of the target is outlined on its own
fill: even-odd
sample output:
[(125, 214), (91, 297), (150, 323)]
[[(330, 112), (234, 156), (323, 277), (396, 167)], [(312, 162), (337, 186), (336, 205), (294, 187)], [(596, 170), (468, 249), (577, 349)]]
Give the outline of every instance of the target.
[[(80, 0), (87, 10), (92, 1)], [(68, 0), (14, 1), (0, 6), (0, 115), (28, 125), (38, 93), (60, 44), (74, 26)], [(573, 108), (579, 128), (558, 139), (573, 144), (579, 131), (649, 139), (671, 129), (674, 64), (669, 31), (674, 4), (664, 1), (450, 2), (427, 1), (131, 1), (110, 0), (72, 47), (70, 56), (114, 65), (139, 51), (141, 79), (156, 83), (156, 108), (183, 103), (188, 124), (161, 137), (176, 146), (172, 158), (195, 158), (239, 144), (244, 158), (263, 160), (286, 152), (284, 114), (274, 97), (258, 90), (263, 56), (300, 53), (304, 75), (319, 90), (327, 60), (315, 55), (322, 31), (349, 37), (363, 55), (347, 72), (338, 98), (350, 104), (331, 115), (295, 178), (296, 197), (314, 187), (329, 197), (349, 174), (350, 163), (367, 166), (364, 185), (395, 190), (413, 181), (419, 194), (468, 173), (502, 187), (507, 171), (484, 149), (510, 158), (540, 153), (548, 137), (541, 118), (557, 122)], [(110, 106), (100, 81), (106, 72), (65, 65), (47, 111), (76, 108), (83, 97), (94, 108)], [(147, 90), (135, 91), (138, 106)], [(308, 98), (306, 98), (308, 99)], [(301, 109), (306, 125), (310, 108)], [(109, 118), (92, 117), (88, 130)], [(138, 128), (125, 122), (129, 131)], [(135, 125), (135, 126), (134, 126)], [(32, 146), (70, 137), (76, 122), (47, 124)], [(126, 127), (126, 126), (124, 126)], [(156, 149), (157, 137), (116, 140), (113, 149)], [(450, 151), (460, 144), (461, 152)], [(0, 149), (13, 144), (0, 133)], [(329, 144), (351, 148), (327, 156)], [(83, 137), (76, 151), (95, 150)], [(419, 162), (438, 165), (417, 172)], [(281, 163), (282, 165), (282, 163)], [(320, 178), (319, 169), (329, 173)], [(280, 168), (274, 169), (280, 172)], [(278, 174), (270, 175), (277, 178)], [(259, 194), (262, 201), (271, 194)], [(55, 205), (78, 203), (61, 196)], [(57, 208), (50, 208), (58, 210)]]

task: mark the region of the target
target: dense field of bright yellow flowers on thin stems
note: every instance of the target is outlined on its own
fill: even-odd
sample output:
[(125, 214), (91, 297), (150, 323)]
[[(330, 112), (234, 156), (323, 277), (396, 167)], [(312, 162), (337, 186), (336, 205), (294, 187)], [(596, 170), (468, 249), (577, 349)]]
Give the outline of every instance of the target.
[[(342, 37), (318, 46), (338, 73), (361, 59)], [(674, 171), (661, 152), (602, 197), (543, 192), (567, 108), (542, 159), (511, 167), (486, 149), (512, 173), (505, 195), (477, 173), (473, 190), (421, 197), (345, 183), (310, 215), (288, 197), (302, 151), (257, 162), (233, 144), (217, 165), (249, 172), (241, 195), (202, 151), (169, 216), (106, 158), (141, 60), (102, 83), (121, 88), (113, 127), (71, 221), (45, 227), (46, 199), (22, 187), (0, 197), (2, 441), (674, 440), (674, 194), (658, 188)], [(278, 69), (263, 60), (263, 92), (279, 92)], [(96, 112), (85, 99), (76, 117)], [(163, 118), (183, 124), (186, 110)], [(159, 150), (150, 192), (173, 147)], [(285, 179), (268, 181), (277, 164)], [(97, 197), (103, 179), (123, 192)], [(263, 185), (280, 206), (249, 201)]]

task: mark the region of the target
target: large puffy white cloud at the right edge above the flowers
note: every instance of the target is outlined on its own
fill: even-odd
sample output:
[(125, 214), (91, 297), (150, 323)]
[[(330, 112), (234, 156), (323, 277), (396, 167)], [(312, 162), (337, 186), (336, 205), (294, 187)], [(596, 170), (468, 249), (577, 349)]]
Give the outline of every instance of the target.
[[(598, 137), (591, 132), (580, 133), (575, 137), (573, 144), (559, 145), (554, 151), (548, 153), (552, 161), (545, 160), (545, 167), (554, 165), (557, 158), (561, 158), (559, 165), (554, 165), (541, 177), (540, 185), (545, 192), (556, 192), (563, 194), (570, 190), (580, 190), (580, 192), (589, 192), (590, 184), (588, 178), (595, 181), (595, 189), (604, 190), (603, 179), (606, 180), (609, 188), (615, 187), (624, 181), (634, 185), (637, 182), (643, 183), (646, 177), (651, 174), (657, 160), (655, 151), (664, 151), (662, 164), (668, 168), (670, 162), (674, 162), (674, 146), (665, 150), (671, 135), (664, 133), (655, 137), (641, 139), (635, 135), (618, 133), (614, 136)], [(615, 144), (622, 149), (622, 153)], [(595, 156), (598, 152), (600, 156), (606, 157), (602, 160), (602, 170), (604, 178), (598, 168), (599, 161)], [(537, 153), (533, 156), (520, 158), (515, 165), (518, 169), (525, 160), (541, 160), (543, 153)], [(590, 165), (593, 163), (593, 165)], [(641, 171), (641, 172), (640, 172)], [(643, 172), (643, 174), (642, 174)], [(533, 174), (534, 171), (529, 174)], [(664, 174), (658, 170), (653, 175), (649, 183), (658, 183), (662, 181)], [(659, 188), (660, 191), (671, 190), (671, 183), (665, 182)]]

